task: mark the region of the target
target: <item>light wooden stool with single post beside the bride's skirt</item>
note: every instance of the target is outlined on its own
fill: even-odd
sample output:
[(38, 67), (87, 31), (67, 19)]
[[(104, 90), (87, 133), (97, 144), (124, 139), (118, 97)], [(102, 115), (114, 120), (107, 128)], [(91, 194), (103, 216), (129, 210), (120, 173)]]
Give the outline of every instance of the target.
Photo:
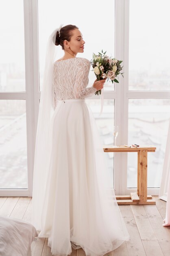
[(155, 152), (154, 146), (140, 146), (128, 148), (126, 146), (103, 146), (104, 152), (137, 152), (137, 192), (130, 195), (117, 195), (118, 204), (156, 204), (151, 195), (147, 195), (147, 154)]

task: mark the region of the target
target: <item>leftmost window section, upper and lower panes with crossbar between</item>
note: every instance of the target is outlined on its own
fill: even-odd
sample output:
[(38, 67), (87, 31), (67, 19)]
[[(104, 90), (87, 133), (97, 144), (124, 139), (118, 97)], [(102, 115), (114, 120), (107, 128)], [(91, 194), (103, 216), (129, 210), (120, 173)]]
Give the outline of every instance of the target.
[(0, 23), (0, 189), (28, 189), (23, 1), (1, 1)]

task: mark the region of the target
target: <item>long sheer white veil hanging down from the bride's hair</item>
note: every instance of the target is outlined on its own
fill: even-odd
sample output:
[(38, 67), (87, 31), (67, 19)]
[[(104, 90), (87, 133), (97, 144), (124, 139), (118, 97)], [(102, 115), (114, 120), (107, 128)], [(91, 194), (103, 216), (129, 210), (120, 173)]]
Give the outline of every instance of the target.
[(56, 56), (55, 38), (57, 31), (55, 29), (48, 38), (46, 48), (46, 60), (44, 68), (43, 86), (41, 90), (39, 115), (37, 122), (37, 134), (35, 142), (35, 158), (33, 172), (33, 194), (32, 194), (32, 223), (37, 230), (41, 229), (41, 212), (43, 207), (45, 182), (46, 182), (46, 164), (48, 163), (49, 152), (46, 151), (48, 145), (48, 133), (50, 128), (50, 120), (54, 112), (52, 97), (53, 83), (53, 64)]

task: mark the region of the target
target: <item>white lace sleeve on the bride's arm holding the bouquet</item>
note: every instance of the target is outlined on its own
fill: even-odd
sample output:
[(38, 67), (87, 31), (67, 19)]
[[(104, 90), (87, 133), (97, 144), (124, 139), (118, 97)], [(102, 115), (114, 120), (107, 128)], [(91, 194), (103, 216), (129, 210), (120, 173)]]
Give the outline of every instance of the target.
[(83, 59), (83, 63), (78, 67), (78, 75), (74, 87), (76, 98), (90, 97), (97, 91), (93, 86), (86, 88), (89, 83), (90, 65), (89, 60)]

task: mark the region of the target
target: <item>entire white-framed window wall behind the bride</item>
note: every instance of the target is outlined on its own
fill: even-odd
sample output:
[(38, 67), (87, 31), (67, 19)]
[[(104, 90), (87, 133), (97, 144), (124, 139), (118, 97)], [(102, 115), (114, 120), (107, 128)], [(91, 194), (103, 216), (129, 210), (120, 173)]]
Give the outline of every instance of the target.
[[(77, 25), (85, 48), (77, 57), (107, 51), (123, 61), (124, 78), (105, 84), (100, 96), (87, 98), (103, 145), (113, 145), (113, 125), (119, 126), (117, 145), (149, 144), (148, 194), (158, 194), (170, 119), (170, 2), (114, 0), (100, 21), (103, 2), (21, 1), (0, 3), (0, 195), (32, 195), (33, 164), (39, 99), (50, 33), (62, 24)], [(10, 5), (10, 8), (9, 8)], [(80, 9), (78, 10), (78, 7)], [(154, 8), (153, 8), (154, 7)], [(63, 11), (70, 10), (63, 16)], [(103, 14), (104, 13), (104, 14)], [(8, 15), (7, 15), (8, 14)], [(46, 17), (46, 18), (44, 18)], [(58, 48), (57, 59), (63, 56)], [(96, 76), (89, 72), (89, 85)], [(116, 194), (136, 191), (137, 155), (105, 153)], [(135, 154), (135, 153), (134, 153)], [(10, 182), (9, 182), (10, 181)], [(11, 193), (11, 194), (10, 194)]]

